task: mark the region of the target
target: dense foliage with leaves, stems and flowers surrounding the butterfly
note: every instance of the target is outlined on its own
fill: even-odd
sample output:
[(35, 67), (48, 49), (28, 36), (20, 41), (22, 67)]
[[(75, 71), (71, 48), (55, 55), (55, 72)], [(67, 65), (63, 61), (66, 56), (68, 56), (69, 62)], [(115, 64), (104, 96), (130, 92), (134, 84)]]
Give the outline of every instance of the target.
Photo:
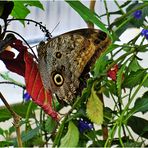
[[(144, 119), (143, 115), (148, 112), (148, 68), (142, 67), (140, 62), (143, 59), (139, 53), (147, 54), (148, 51), (148, 2), (127, 0), (120, 5), (114, 0), (112, 3), (118, 10), (110, 11), (108, 2), (104, 0), (105, 14), (93, 12), (80, 1), (66, 0), (64, 3), (74, 9), (85, 22), (91, 22), (106, 32), (112, 44), (92, 67), (92, 77), (87, 80), (87, 87), (82, 95), (75, 99), (70, 111), (60, 120), (58, 112), (64, 105), (56, 98), (52, 99), (50, 91), (44, 90), (37, 69), (36, 55), (33, 51), (28, 52), (28, 48), (31, 47), (25, 39), (25, 46), (20, 39), (16, 39), (15, 31), (13, 35), (6, 33), (7, 23), (20, 19), (25, 25), (25, 18), (31, 13), (29, 7), (35, 6), (44, 10), (43, 5), (39, 1), (0, 2), (0, 18), (4, 21), (4, 28), (0, 25), (0, 60), (10, 71), (22, 75), (26, 81), (24, 85), (13, 80), (8, 73), (0, 73), (8, 84), (21, 87), (24, 94), (22, 96), (26, 98), (23, 103), (12, 106), (21, 116), (20, 126), (25, 126), (21, 131), (23, 146), (49, 146), (49, 142), (52, 142), (53, 147), (86, 147), (88, 144), (92, 147), (146, 146), (148, 120)], [(10, 15), (13, 19), (8, 19)], [(111, 21), (114, 15), (116, 19)], [(101, 21), (104, 17), (107, 24)], [(50, 33), (43, 25), (30, 21), (40, 26), (45, 36), (50, 38)], [(123, 44), (120, 42), (120, 36), (129, 28), (139, 28), (141, 32)], [(6, 50), (8, 45), (15, 48), (19, 54), (15, 56), (12, 51)], [(33, 75), (31, 78), (30, 73)], [(145, 88), (143, 94), (140, 91), (142, 88)], [(113, 106), (106, 103), (111, 101)], [(39, 119), (36, 113), (38, 111)], [(11, 118), (12, 115), (7, 108), (0, 108), (0, 122)], [(96, 128), (96, 125), (102, 126)], [(0, 128), (0, 136), (4, 139), (0, 141), (1, 147), (18, 146), (17, 136), (13, 136), (14, 132), (13, 125), (7, 130)], [(133, 133), (136, 133), (138, 138), (135, 138)]]

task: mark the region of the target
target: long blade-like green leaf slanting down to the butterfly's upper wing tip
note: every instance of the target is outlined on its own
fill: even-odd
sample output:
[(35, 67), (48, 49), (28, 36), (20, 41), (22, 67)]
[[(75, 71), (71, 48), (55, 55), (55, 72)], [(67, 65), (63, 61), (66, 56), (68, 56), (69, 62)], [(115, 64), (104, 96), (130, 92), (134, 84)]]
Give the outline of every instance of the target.
[(109, 35), (108, 30), (105, 25), (99, 20), (99, 17), (96, 13), (92, 12), (85, 5), (83, 5), (80, 1), (69, 1), (65, 0), (79, 15), (86, 21), (92, 22), (98, 27), (100, 27), (104, 32)]

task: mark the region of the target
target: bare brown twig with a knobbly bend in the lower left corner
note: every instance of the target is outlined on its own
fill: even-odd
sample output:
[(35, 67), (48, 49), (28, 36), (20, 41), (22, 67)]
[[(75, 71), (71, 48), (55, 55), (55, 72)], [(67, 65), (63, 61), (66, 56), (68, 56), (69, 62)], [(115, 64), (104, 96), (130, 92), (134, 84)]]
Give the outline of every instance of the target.
[(1, 92), (0, 92), (0, 98), (3, 101), (3, 103), (5, 104), (5, 106), (7, 107), (7, 109), (9, 110), (9, 112), (11, 113), (11, 115), (13, 116), (13, 119), (14, 119), (13, 125), (16, 128), (18, 147), (23, 147), (22, 139), (21, 139), (21, 132), (20, 132), (21, 117), (12, 110), (11, 106), (8, 104), (8, 102), (6, 101), (6, 99), (4, 98), (4, 96), (2, 95)]

